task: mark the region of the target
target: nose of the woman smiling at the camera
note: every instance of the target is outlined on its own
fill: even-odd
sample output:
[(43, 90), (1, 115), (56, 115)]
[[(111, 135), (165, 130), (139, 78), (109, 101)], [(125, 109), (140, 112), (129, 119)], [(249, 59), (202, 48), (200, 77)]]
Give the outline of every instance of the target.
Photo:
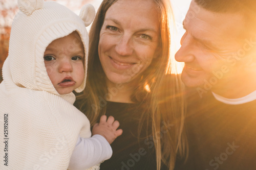
[(115, 51), (121, 56), (130, 56), (133, 54), (132, 39), (129, 35), (122, 35), (116, 42)]

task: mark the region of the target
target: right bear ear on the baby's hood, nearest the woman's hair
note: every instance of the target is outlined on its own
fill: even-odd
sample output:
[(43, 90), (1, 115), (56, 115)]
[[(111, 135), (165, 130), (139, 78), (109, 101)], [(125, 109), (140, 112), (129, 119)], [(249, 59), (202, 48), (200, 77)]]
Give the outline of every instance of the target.
[(86, 27), (88, 27), (95, 16), (95, 9), (91, 4), (86, 4), (82, 7), (79, 17), (84, 21)]

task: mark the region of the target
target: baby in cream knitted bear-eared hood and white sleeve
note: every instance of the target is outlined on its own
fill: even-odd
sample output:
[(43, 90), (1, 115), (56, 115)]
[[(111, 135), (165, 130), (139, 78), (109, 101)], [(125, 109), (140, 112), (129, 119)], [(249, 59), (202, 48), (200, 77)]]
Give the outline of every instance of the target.
[(86, 85), (94, 8), (84, 6), (78, 17), (55, 2), (19, 0), (18, 7), (0, 84), (0, 112), (8, 117), (0, 169), (99, 169), (122, 130), (102, 116), (91, 137), (72, 92)]

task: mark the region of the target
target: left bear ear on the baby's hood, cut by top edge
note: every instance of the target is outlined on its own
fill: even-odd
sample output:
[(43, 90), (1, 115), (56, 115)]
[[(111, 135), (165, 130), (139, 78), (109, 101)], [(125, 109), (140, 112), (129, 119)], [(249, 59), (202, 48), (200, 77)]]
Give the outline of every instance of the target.
[(18, 0), (19, 10), (28, 16), (42, 7), (44, 7), (44, 0)]

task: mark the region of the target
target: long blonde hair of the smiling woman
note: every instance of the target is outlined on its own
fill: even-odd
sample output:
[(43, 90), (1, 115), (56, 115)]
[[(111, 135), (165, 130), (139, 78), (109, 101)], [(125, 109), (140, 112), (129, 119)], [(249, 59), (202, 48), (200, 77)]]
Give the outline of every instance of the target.
[[(80, 109), (86, 113), (93, 126), (98, 118), (105, 114), (106, 100), (103, 96), (108, 93), (105, 74), (98, 54), (99, 33), (103, 25), (106, 11), (118, 0), (103, 0), (90, 31), (89, 61), (87, 87), (83, 94), (78, 96)], [(183, 99), (183, 86), (178, 75), (167, 76), (170, 72), (170, 23), (172, 22), (172, 8), (169, 0), (154, 1), (159, 12), (161, 42), (159, 43), (159, 56), (142, 73), (138, 86), (134, 89), (131, 100), (135, 103), (145, 103), (147, 109), (141, 114), (139, 130), (144, 120), (152, 122), (147, 127), (152, 128), (157, 169), (161, 163), (173, 169), (176, 154), (185, 154), (186, 142), (182, 137), (183, 117), (185, 104)], [(147, 86), (148, 90), (145, 90)], [(151, 120), (151, 121), (150, 121)], [(165, 130), (163, 130), (163, 127)], [(159, 136), (160, 135), (160, 136)]]

